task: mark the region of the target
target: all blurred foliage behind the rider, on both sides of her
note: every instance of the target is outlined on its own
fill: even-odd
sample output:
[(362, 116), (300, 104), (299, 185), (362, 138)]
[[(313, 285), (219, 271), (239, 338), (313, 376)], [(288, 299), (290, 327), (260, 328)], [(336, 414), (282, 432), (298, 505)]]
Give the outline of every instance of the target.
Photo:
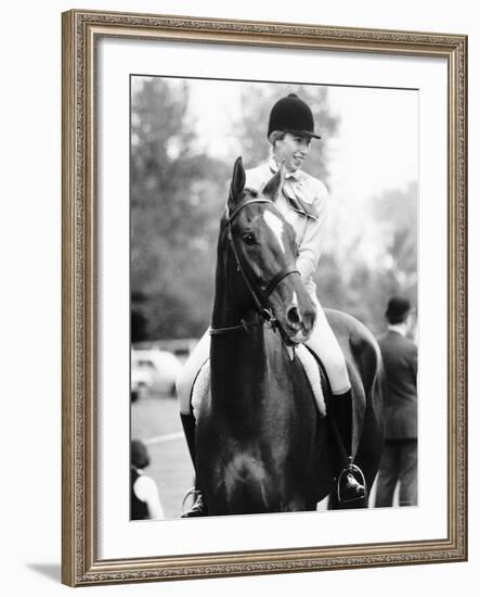
[[(131, 334), (143, 340), (196, 338), (210, 322), (219, 219), (235, 157), (246, 167), (268, 157), (272, 104), (297, 92), (312, 107), (323, 141), (312, 143), (306, 170), (328, 187), (328, 138), (341, 126), (328, 88), (246, 85), (225, 139), (236, 147), (206, 151), (198, 142), (187, 80), (143, 77), (131, 98)], [(215, 101), (215, 98), (212, 99)], [(198, 110), (198, 106), (197, 106)], [(417, 189), (392, 189), (356, 205), (332, 190), (323, 256), (315, 275), (324, 306), (384, 328), (394, 293), (416, 304)]]

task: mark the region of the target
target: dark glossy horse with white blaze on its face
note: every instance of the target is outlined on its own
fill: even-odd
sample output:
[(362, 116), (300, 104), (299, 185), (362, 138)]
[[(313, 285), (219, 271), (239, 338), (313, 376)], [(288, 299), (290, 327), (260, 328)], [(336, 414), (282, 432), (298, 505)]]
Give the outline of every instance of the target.
[[(314, 510), (334, 496), (341, 469), (328, 415), (320, 417), (295, 351), (293, 357), (291, 346), (311, 334), (315, 306), (296, 270), (294, 229), (274, 204), (281, 183), (277, 174), (261, 193), (245, 189), (238, 158), (220, 224), (211, 394), (196, 430), (197, 475), (209, 515)], [(354, 461), (368, 491), (382, 447), (379, 351), (352, 317), (327, 317), (348, 364)], [(367, 497), (360, 506), (366, 505)]]

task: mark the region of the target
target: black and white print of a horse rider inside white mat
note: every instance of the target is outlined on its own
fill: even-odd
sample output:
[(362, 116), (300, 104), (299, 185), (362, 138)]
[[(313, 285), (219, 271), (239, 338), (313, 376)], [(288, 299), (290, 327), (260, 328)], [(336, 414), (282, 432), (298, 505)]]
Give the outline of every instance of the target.
[(130, 519), (417, 506), (418, 89), (130, 76)]

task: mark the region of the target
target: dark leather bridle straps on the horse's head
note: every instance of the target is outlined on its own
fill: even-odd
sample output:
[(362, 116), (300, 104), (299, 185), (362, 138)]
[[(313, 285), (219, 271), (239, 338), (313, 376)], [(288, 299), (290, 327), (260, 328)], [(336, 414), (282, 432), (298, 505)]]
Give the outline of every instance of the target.
[(235, 331), (248, 331), (248, 329), (252, 326), (263, 325), (263, 322), (268, 322), (272, 326), (272, 328), (275, 328), (277, 325), (277, 320), (273, 314), (273, 310), (271, 307), (268, 306), (268, 298), (272, 294), (272, 292), (276, 289), (278, 283), (289, 276), (290, 274), (298, 274), (300, 276), (300, 272), (295, 267), (284, 267), (278, 274), (275, 274), (275, 276), (268, 282), (264, 290), (256, 287), (249, 279), (247, 270), (245, 268), (245, 265), (242, 263), (241, 253), (238, 251), (238, 247), (235, 242), (235, 238), (232, 233), (232, 223), (236, 218), (236, 216), (242, 212), (244, 207), (247, 205), (251, 205), (252, 203), (271, 203), (274, 204), (272, 200), (265, 199), (265, 198), (254, 198), (254, 199), (247, 199), (246, 201), (243, 201), (239, 205), (237, 205), (232, 213), (230, 213), (230, 208), (226, 205), (226, 219), (225, 219), (225, 226), (226, 226), (226, 240), (229, 241), (230, 247), (232, 249), (232, 253), (235, 257), (236, 262), (236, 269), (241, 272), (242, 278), (244, 279), (245, 285), (247, 287), (247, 290), (250, 294), (250, 296), (254, 300), (255, 307), (257, 313), (261, 316), (260, 322), (254, 321), (254, 322), (246, 322), (245, 320), (241, 320), (239, 325), (236, 326), (229, 326), (225, 328), (210, 328), (210, 335), (219, 335)]

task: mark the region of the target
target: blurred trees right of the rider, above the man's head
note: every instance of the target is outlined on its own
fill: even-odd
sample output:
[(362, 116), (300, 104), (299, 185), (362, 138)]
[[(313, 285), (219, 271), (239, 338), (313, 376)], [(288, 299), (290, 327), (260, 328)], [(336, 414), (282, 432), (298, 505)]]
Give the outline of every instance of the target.
[(314, 277), (324, 306), (346, 310), (378, 333), (390, 296), (403, 294), (416, 304), (416, 183), (371, 198), (350, 217), (334, 212), (327, 237)]

